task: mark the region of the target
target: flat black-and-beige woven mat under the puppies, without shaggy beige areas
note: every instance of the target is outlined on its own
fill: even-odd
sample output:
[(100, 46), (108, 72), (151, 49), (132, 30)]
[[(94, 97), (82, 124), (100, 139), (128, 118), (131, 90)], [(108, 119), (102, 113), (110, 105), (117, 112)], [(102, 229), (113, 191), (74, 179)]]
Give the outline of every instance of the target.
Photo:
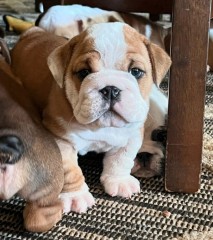
[[(82, 164), (84, 162), (84, 164)], [(19, 198), (0, 204), (0, 239), (172, 239), (190, 231), (213, 228), (213, 173), (203, 169), (196, 194), (166, 193), (163, 178), (142, 179), (141, 193), (131, 199), (112, 198), (99, 182), (101, 164), (81, 161), (96, 206), (85, 214), (64, 214), (49, 232), (34, 234), (22, 227), (24, 202)], [(163, 211), (171, 215), (166, 218)]]

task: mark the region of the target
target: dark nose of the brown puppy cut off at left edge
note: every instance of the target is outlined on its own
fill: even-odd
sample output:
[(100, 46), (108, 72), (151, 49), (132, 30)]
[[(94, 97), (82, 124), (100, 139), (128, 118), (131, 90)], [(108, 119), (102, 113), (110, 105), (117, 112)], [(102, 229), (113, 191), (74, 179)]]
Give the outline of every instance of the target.
[(16, 163), (23, 152), (24, 146), (18, 137), (14, 135), (0, 137), (0, 164)]

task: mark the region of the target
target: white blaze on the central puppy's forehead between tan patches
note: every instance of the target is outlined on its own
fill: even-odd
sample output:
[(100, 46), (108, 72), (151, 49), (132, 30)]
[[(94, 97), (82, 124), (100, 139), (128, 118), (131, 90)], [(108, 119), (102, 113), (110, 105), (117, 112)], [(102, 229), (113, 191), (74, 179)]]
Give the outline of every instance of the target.
[(121, 23), (94, 24), (89, 29), (89, 35), (94, 39), (94, 48), (100, 53), (105, 67), (114, 68), (116, 63), (125, 58), (127, 44), (123, 30)]

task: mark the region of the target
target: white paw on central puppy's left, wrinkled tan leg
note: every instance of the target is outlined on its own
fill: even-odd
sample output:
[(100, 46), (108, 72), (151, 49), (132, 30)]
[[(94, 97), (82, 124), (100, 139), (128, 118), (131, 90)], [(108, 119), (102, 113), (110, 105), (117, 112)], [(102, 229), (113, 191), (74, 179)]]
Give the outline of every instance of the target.
[(86, 184), (79, 191), (61, 193), (60, 199), (64, 204), (64, 212), (84, 213), (95, 204), (95, 199)]

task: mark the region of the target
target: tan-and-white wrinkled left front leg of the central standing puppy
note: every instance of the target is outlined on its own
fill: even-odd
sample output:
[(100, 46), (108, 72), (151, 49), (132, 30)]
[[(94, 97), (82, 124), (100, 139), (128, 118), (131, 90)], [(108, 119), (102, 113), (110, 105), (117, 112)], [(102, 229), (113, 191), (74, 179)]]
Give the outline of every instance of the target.
[(64, 168), (64, 187), (60, 194), (64, 212), (86, 212), (89, 207), (94, 205), (95, 200), (89, 192), (81, 168), (78, 166), (77, 152), (68, 142), (59, 139), (57, 143), (61, 150)]

